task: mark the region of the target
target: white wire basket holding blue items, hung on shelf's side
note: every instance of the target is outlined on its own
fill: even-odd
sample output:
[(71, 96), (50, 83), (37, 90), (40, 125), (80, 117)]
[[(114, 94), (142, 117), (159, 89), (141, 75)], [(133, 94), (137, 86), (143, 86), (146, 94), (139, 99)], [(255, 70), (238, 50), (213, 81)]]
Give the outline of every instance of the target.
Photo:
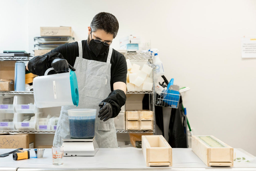
[(180, 99), (180, 94), (155, 92), (155, 105), (156, 106), (178, 108), (179, 107), (179, 99)]

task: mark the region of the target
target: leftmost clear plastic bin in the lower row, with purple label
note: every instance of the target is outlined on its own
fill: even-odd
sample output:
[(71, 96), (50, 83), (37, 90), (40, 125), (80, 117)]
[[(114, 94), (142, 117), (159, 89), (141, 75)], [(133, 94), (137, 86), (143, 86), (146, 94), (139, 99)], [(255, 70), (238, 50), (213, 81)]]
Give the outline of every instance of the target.
[(0, 130), (15, 130), (13, 113), (0, 114)]

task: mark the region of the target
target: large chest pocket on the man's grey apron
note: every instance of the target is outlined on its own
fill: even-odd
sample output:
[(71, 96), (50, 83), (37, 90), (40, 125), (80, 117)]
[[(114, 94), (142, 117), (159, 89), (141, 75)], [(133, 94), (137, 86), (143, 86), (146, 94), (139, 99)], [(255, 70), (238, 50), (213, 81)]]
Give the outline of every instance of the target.
[(86, 96), (94, 97), (97, 99), (104, 99), (105, 86), (106, 86), (106, 77), (99, 77), (95, 75), (89, 75)]

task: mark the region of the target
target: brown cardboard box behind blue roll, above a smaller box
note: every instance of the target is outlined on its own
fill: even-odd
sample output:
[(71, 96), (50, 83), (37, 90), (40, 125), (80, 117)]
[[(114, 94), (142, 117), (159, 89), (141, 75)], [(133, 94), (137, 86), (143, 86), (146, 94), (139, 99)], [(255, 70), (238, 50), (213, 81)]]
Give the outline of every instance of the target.
[(0, 61), (0, 79), (14, 80), (16, 61)]

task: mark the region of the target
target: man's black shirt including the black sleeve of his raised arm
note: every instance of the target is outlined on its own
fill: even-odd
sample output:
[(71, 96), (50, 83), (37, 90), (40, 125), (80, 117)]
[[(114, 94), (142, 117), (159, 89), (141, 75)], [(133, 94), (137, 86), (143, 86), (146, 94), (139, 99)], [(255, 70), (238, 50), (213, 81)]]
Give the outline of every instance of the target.
[[(89, 50), (87, 40), (82, 40), (82, 48), (83, 48), (83, 58), (89, 60), (97, 60), (100, 62), (106, 62), (109, 49), (104, 51), (104, 53), (98, 55), (97, 57)], [(76, 57), (79, 56), (78, 43), (65, 43), (61, 46), (56, 47), (45, 55), (36, 56), (29, 60), (28, 69), (33, 74), (38, 76), (44, 75), (45, 71), (48, 68), (51, 68), (51, 62), (55, 58), (61, 58), (60, 54), (52, 54), (58, 52), (60, 53), (64, 59), (68, 61), (71, 66), (74, 66)], [(124, 82), (126, 83), (126, 74), (127, 74), (127, 65), (124, 55), (119, 53), (118, 51), (113, 49), (113, 53), (111, 56), (111, 91), (113, 91), (113, 84), (115, 82)], [(53, 71), (54, 72), (54, 71)]]

